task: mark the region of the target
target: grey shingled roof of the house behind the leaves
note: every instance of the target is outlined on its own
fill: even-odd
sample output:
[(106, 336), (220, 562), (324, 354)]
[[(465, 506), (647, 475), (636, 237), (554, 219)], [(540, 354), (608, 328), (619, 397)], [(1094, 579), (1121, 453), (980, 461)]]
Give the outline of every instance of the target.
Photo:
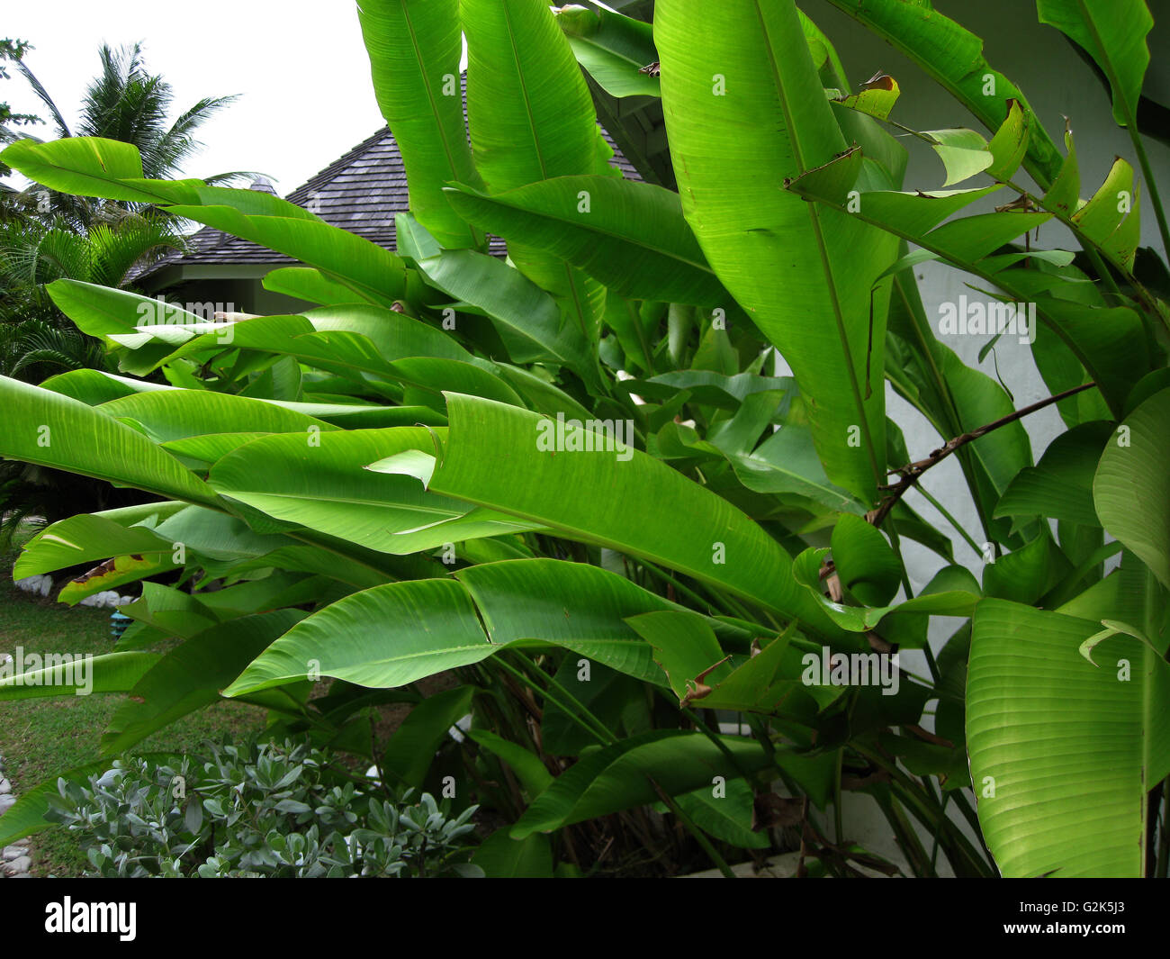
[[(611, 163), (627, 179), (640, 180), (638, 171), (621, 155), (610, 135), (603, 136), (613, 149)], [(260, 179), (253, 190), (275, 193), (267, 179)], [(406, 171), (398, 143), (384, 126), (372, 137), (338, 157), (329, 166), (285, 197), (290, 203), (311, 210), (325, 222), (339, 226), (359, 237), (393, 249), (394, 214), (407, 210)], [(490, 251), (505, 252), (503, 240), (493, 237)], [(172, 251), (142, 268), (132, 279), (145, 280), (168, 267), (215, 265), (223, 266), (287, 266), (296, 262), (282, 253), (241, 240), (220, 230), (205, 227), (187, 238), (186, 251)]]

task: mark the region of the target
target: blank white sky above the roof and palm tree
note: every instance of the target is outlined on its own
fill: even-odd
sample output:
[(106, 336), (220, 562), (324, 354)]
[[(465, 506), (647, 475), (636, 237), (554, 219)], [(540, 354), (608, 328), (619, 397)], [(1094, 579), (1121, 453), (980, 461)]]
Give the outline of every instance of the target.
[[(351, 0), (6, 0), (0, 37), (35, 47), (25, 62), (70, 125), (103, 41), (143, 41), (147, 69), (174, 88), (174, 115), (204, 96), (242, 94), (199, 131), (191, 177), (254, 170), (283, 196), (384, 125)], [(43, 117), (23, 76), (9, 74), (0, 101)]]

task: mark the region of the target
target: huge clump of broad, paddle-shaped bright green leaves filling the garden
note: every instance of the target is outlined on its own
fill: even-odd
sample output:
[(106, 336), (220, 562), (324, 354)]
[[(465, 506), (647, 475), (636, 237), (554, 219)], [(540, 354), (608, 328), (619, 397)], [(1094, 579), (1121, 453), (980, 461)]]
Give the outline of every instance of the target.
[[(220, 697), (252, 703), (276, 734), (366, 754), (380, 783), (493, 810), (488, 875), (730, 875), (784, 849), (798, 875), (1166, 875), (1170, 244), (1136, 119), (1149, 12), (1037, 4), (1130, 138), (1137, 169), (1119, 158), (1095, 185), (1072, 135), (1058, 146), (925, 0), (833, 2), (986, 132), (908, 131), (896, 78), (849, 83), (791, 0), (717, 16), (658, 0), (653, 25), (362, 0), (410, 180), (395, 252), (271, 196), (158, 179), (111, 139), (0, 155), (51, 190), (285, 253), (302, 266), (266, 287), (316, 304), (209, 323), (60, 280), (54, 303), (121, 372), (0, 381), (0, 453), (157, 498), (55, 523), (14, 570), (92, 562), (68, 603), (143, 582), (92, 662), (92, 691), (126, 696), (105, 756)], [(677, 192), (617, 174), (581, 66), (660, 98)], [(945, 181), (904, 183), (903, 144)], [(1142, 198), (1161, 252), (1138, 249)], [(1076, 248), (1034, 249), (1045, 222)], [(1034, 309), (1048, 399), (1017, 407), (938, 340), (914, 280), (928, 260), (991, 315)], [(887, 382), (938, 433), (929, 457), (910, 460)], [(1066, 430), (1034, 460), (1021, 420), (1048, 406)], [(973, 570), (904, 499), (951, 457)], [(916, 591), (909, 541), (941, 561)], [(176, 570), (179, 587), (152, 581)], [(937, 651), (931, 624), (950, 624)], [(73, 694), (70, 665), (0, 696)], [(424, 696), (446, 671), (459, 685)], [(378, 707), (404, 703), (380, 741)], [(43, 828), (57, 792), (26, 794), (0, 838)], [(903, 862), (851, 838), (849, 793)]]

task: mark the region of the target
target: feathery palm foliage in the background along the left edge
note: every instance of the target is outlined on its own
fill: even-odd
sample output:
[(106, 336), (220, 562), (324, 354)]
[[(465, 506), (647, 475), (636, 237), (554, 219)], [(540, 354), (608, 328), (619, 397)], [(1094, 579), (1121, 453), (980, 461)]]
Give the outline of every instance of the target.
[[(6, 46), (5, 46), (6, 44)], [(61, 108), (29, 69), (21, 41), (0, 44), (53, 119), (58, 137), (73, 131)], [(133, 144), (151, 176), (176, 176), (199, 149), (199, 128), (235, 97), (204, 97), (170, 119), (174, 95), (147, 70), (139, 44), (98, 49), (101, 73), (87, 87), (76, 129), (85, 136)], [(0, 142), (28, 138), (29, 115), (0, 109)], [(6, 125), (11, 124), (11, 125)], [(9, 172), (0, 167), (0, 173)], [(208, 181), (228, 183), (227, 173)], [(172, 249), (185, 248), (184, 224), (153, 206), (80, 197), (34, 185), (0, 194), (0, 375), (40, 383), (69, 370), (112, 372), (99, 340), (81, 331), (46, 292), (68, 279), (105, 287), (133, 286), (137, 270)], [(161, 377), (156, 377), (161, 379)], [(22, 522), (48, 523), (78, 509), (138, 502), (142, 496), (61, 471), (8, 463), (0, 466), (0, 543)]]

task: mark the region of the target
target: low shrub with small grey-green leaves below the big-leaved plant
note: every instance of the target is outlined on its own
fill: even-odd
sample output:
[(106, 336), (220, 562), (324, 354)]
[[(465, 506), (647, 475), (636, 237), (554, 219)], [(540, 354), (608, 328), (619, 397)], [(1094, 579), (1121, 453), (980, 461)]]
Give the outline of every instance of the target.
[(482, 875), (468, 862), (474, 806), (449, 818), (429, 793), (371, 797), (305, 742), (204, 749), (61, 780), (48, 817), (83, 837), (95, 877)]

